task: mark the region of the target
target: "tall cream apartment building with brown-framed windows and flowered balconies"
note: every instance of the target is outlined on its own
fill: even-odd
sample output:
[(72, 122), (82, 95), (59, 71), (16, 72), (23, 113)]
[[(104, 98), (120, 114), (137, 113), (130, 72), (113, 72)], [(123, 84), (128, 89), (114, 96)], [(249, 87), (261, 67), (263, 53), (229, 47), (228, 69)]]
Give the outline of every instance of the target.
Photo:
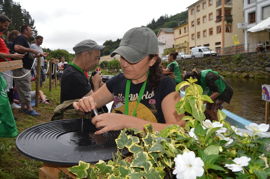
[(188, 8), (189, 51), (196, 46), (220, 49), (233, 46), (232, 36), (244, 43), (237, 23), (244, 22), (243, 1), (199, 0)]

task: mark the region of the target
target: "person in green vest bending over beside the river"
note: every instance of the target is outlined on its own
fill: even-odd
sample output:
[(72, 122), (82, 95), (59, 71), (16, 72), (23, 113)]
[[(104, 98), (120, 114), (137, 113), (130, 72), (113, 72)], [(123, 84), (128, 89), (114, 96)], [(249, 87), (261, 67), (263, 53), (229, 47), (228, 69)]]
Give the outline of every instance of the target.
[(208, 95), (214, 102), (209, 103), (204, 101), (204, 103), (206, 103), (205, 109), (214, 120), (218, 120), (217, 110), (222, 110), (224, 101), (230, 103), (233, 95), (233, 89), (230, 82), (220, 76), (218, 72), (211, 69), (201, 71), (194, 68), (192, 71), (187, 72), (184, 80), (189, 79), (190, 77), (198, 80), (196, 83), (202, 87), (202, 94)]

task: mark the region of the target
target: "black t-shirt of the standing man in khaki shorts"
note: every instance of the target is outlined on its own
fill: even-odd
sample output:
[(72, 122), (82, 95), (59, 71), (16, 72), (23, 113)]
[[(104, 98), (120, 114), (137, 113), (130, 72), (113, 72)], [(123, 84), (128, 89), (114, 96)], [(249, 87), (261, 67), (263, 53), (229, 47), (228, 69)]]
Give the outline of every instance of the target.
[[(13, 51), (14, 50), (14, 46), (15, 45), (21, 45), (25, 48), (31, 48), (31, 45), (30, 43), (28, 42), (28, 39), (23, 36), (23, 35), (19, 35), (17, 36), (14, 41), (13, 41), (13, 45), (12, 45), (12, 49)], [(21, 53), (21, 52), (17, 52), (18, 54), (24, 54), (24, 53)], [(25, 69), (31, 69), (32, 65), (33, 65), (33, 62), (34, 62), (34, 56), (32, 53), (27, 53), (23, 58), (22, 58), (22, 66), (23, 68)]]

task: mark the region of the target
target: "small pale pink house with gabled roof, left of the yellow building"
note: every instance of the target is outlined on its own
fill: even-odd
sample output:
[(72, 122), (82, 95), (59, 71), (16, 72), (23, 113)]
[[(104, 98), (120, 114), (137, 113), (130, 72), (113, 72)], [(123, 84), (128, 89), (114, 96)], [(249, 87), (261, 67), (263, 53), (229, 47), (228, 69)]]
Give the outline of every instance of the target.
[[(174, 30), (173, 28), (160, 28), (157, 34), (158, 42), (165, 43), (166, 48), (174, 48)], [(160, 49), (161, 50), (161, 49)]]

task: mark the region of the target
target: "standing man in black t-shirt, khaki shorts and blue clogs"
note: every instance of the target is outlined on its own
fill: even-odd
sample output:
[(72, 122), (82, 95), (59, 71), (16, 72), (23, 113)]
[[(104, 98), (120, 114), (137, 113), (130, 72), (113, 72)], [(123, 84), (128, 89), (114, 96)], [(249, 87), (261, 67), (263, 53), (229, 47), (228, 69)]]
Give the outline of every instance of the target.
[[(17, 36), (13, 41), (13, 50), (18, 52), (19, 54), (27, 53), (23, 59), (23, 67), (20, 69), (14, 69), (13, 75), (20, 77), (25, 75), (29, 70), (31, 70), (32, 64), (34, 62), (33, 54), (38, 55), (38, 51), (31, 48), (28, 39), (32, 37), (33, 31), (30, 25), (22, 25), (21, 35)], [(31, 106), (31, 79), (30, 73), (22, 78), (14, 78), (17, 92), (21, 101), (21, 111), (29, 114), (31, 116), (39, 116), (35, 110), (33, 110)]]

